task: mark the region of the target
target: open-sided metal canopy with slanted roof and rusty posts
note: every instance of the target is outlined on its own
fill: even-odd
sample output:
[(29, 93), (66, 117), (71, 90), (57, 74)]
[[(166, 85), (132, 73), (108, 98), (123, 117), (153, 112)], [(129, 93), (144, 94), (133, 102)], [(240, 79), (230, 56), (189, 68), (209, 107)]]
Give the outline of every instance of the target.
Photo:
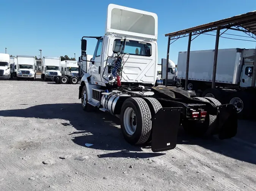
[[(226, 29), (226, 30), (220, 34), (221, 29)], [(185, 90), (187, 90), (191, 41), (194, 40), (196, 37), (198, 37), (200, 34), (217, 30), (215, 52), (214, 52), (214, 63), (213, 63), (214, 67), (213, 67), (213, 75), (212, 75), (212, 88), (215, 88), (219, 38), (220, 38), (220, 35), (224, 34), (228, 29), (242, 31), (247, 35), (249, 35), (250, 37), (252, 37), (253, 39), (256, 39), (256, 11), (247, 12), (242, 15), (236, 15), (234, 17), (229, 17), (229, 18), (225, 18), (215, 22), (207, 23), (204, 25), (199, 25), (192, 28), (183, 29), (181, 31), (165, 34), (165, 36), (168, 37), (165, 86), (167, 86), (167, 80), (168, 80), (168, 60), (169, 60), (171, 40), (176, 41), (179, 38), (188, 36), (187, 68), (186, 68), (186, 80), (185, 80)], [(196, 35), (196, 37), (192, 39), (193, 35)], [(252, 76), (251, 86), (254, 87), (255, 83), (256, 83), (256, 54), (254, 57), (253, 76)]]

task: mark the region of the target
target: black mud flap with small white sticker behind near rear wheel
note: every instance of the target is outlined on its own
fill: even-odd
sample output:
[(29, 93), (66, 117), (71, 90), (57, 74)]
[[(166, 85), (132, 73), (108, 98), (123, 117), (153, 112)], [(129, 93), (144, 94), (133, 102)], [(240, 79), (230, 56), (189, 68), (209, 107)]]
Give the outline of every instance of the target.
[(176, 147), (181, 109), (161, 108), (152, 117), (151, 149), (153, 152), (167, 151)]

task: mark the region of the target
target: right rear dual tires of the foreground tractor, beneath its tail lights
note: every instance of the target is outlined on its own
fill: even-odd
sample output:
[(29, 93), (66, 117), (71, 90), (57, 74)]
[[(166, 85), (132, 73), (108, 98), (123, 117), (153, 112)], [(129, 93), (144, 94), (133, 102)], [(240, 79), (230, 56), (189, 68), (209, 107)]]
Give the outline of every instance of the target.
[[(206, 98), (203, 97), (195, 97), (195, 99), (201, 100), (203, 102), (210, 102)], [(199, 121), (189, 121), (187, 119), (182, 120), (182, 127), (188, 133), (194, 136), (211, 136), (215, 134), (214, 130), (216, 127), (216, 119), (217, 116), (209, 115), (205, 117), (205, 121), (203, 123)]]

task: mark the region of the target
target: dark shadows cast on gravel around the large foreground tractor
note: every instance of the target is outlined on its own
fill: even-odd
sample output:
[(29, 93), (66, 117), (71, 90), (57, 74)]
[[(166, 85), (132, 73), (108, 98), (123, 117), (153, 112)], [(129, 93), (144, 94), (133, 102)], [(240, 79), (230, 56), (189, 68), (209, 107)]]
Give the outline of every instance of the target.
[[(72, 140), (75, 144), (89, 148), (116, 151), (102, 154), (98, 157), (130, 157), (149, 158), (163, 155), (164, 153), (140, 152), (138, 146), (127, 143), (119, 129), (119, 119), (104, 112), (84, 112), (79, 103), (45, 104), (31, 106), (26, 109), (13, 109), (0, 111), (4, 117), (36, 117), (41, 119), (63, 119), (69, 122), (62, 123), (63, 128), (73, 126), (76, 130), (71, 134), (77, 135)], [(199, 145), (211, 151), (232, 157), (244, 162), (256, 164), (256, 135), (255, 124), (240, 122), (239, 133), (235, 138), (228, 140), (199, 139), (185, 134), (179, 129), (177, 144)], [(254, 126), (254, 127), (253, 127)], [(144, 148), (151, 148), (145, 146)], [(121, 151), (120, 151), (121, 150)]]

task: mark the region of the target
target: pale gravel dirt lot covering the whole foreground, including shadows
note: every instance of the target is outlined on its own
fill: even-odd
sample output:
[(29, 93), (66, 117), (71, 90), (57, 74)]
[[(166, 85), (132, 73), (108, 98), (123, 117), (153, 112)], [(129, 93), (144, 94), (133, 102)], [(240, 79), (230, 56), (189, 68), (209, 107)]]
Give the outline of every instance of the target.
[(0, 87), (0, 190), (256, 190), (255, 122), (223, 141), (181, 128), (175, 149), (153, 153), (126, 143), (117, 118), (84, 112), (79, 85)]

